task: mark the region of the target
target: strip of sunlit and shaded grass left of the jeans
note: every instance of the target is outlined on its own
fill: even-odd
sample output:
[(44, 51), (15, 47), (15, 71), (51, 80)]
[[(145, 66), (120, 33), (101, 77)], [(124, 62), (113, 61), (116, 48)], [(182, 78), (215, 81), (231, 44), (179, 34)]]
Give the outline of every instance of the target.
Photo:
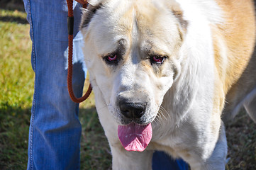
[[(33, 96), (30, 38), (19, 11), (0, 11), (0, 169), (26, 169), (28, 126)], [(14, 22), (17, 21), (17, 22)]]

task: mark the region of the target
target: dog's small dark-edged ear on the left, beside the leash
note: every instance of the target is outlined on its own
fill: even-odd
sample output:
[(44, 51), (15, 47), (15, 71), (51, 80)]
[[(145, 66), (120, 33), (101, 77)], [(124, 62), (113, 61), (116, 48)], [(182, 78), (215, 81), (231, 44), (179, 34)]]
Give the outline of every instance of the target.
[(81, 18), (81, 24), (80, 24), (80, 30), (82, 28), (86, 28), (88, 24), (91, 21), (91, 18), (94, 17), (94, 14), (96, 11), (101, 8), (102, 1), (95, 0), (95, 1), (88, 1), (87, 8), (82, 8), (82, 18)]

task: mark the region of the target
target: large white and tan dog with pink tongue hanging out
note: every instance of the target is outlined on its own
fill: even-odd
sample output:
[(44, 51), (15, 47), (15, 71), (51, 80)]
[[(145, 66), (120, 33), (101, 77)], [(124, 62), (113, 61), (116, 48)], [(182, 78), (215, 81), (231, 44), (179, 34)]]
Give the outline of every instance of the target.
[(152, 153), (225, 169), (223, 114), (256, 122), (250, 0), (91, 0), (85, 62), (113, 169), (151, 169)]

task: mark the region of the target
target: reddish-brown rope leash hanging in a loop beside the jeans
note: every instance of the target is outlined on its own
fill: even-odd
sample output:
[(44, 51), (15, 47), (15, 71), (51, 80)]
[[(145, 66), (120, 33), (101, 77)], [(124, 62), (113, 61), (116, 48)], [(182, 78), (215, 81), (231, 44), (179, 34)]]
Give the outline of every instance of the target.
[[(84, 8), (87, 7), (87, 0), (80, 0), (79, 2), (83, 2), (82, 5)], [(67, 27), (69, 34), (69, 52), (68, 52), (68, 69), (67, 69), (67, 89), (69, 91), (69, 96), (75, 103), (81, 103), (85, 101), (89, 95), (91, 94), (91, 84), (87, 89), (87, 92), (81, 98), (77, 98), (74, 96), (73, 88), (72, 88), (72, 72), (73, 72), (73, 64), (72, 64), (72, 56), (73, 56), (73, 30), (74, 30), (74, 13), (73, 13), (73, 0), (67, 0)]]

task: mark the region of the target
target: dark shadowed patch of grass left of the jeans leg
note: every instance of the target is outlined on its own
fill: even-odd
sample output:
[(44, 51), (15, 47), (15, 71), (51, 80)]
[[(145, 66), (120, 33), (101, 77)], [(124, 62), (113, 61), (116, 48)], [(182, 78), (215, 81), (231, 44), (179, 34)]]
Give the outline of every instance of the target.
[(26, 169), (30, 108), (0, 103), (0, 169)]

